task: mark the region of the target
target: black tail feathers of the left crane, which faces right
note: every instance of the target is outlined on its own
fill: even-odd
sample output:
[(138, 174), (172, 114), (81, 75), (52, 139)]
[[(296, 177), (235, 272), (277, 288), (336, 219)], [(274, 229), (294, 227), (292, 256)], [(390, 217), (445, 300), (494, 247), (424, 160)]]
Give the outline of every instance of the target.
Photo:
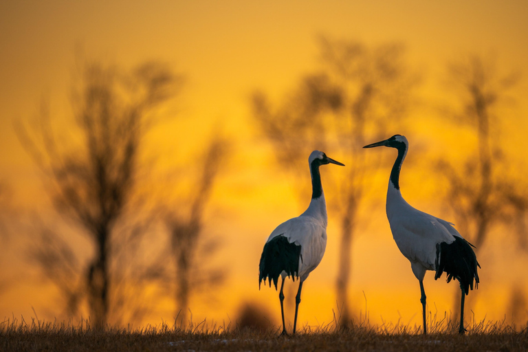
[(266, 278), (270, 287), (272, 281), (277, 289), (278, 276), (286, 272), (287, 276), (299, 276), (300, 245), (289, 243), (288, 239), (279, 235), (264, 245), (259, 264), (259, 289), (261, 282), (266, 284)]

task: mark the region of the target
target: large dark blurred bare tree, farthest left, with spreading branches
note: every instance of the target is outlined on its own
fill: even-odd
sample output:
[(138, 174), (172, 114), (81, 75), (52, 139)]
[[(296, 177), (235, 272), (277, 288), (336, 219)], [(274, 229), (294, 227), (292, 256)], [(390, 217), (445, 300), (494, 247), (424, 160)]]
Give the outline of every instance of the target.
[[(178, 82), (159, 63), (123, 74), (115, 67), (86, 62), (73, 96), (80, 145), (64, 147), (58, 142), (47, 109), (34, 135), (18, 125), (23, 145), (46, 176), (54, 208), (78, 225), (94, 246), (94, 256), (83, 265), (71, 241), (47, 229), (34, 245), (33, 257), (67, 297), (70, 313), (86, 292), (92, 326), (98, 329), (107, 324), (113, 305), (113, 259), (126, 247), (125, 239), (132, 240), (136, 233), (127, 230), (125, 221), (130, 219), (143, 138), (156, 109)], [(126, 236), (118, 236), (120, 232)]]

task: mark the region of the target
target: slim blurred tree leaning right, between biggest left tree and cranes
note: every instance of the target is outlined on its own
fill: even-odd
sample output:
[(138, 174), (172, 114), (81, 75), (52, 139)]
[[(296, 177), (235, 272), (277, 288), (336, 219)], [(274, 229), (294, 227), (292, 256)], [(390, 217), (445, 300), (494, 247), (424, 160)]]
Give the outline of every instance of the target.
[[(187, 311), (193, 293), (210, 291), (223, 282), (225, 272), (221, 267), (208, 267), (211, 257), (218, 248), (218, 241), (204, 239), (204, 215), (212, 188), (221, 166), (225, 163), (229, 143), (221, 136), (210, 140), (201, 164), (201, 175), (195, 182), (186, 206), (165, 210), (164, 222), (168, 228), (170, 247), (168, 256), (174, 261), (175, 270), (168, 274), (168, 283), (175, 283), (176, 316), (181, 323), (187, 323)], [(205, 260), (204, 260), (205, 259)]]

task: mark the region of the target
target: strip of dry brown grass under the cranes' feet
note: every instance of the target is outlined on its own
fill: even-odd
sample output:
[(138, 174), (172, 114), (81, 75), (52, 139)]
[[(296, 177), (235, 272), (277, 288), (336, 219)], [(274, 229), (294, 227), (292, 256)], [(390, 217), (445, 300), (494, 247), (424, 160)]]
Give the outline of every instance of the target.
[(90, 329), (87, 322), (41, 323), (5, 320), (0, 351), (527, 351), (528, 329), (504, 322), (480, 322), (459, 336), (456, 324), (432, 324), (428, 336), (419, 327), (336, 324), (304, 327), (296, 336), (280, 330), (206, 326), (181, 328), (162, 323), (140, 329)]

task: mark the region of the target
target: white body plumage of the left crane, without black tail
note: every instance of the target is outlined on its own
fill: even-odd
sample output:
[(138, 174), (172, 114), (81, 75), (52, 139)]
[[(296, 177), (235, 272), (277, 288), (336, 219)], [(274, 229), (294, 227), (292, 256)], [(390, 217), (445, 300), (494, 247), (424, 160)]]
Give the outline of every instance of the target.
[[(267, 242), (276, 236), (285, 236), (289, 243), (300, 245), (299, 272), (301, 281), (305, 281), (321, 262), (327, 248), (327, 204), (325, 194), (311, 199), (308, 209), (298, 217), (289, 219), (273, 230)], [(281, 272), (285, 278), (286, 272)]]

